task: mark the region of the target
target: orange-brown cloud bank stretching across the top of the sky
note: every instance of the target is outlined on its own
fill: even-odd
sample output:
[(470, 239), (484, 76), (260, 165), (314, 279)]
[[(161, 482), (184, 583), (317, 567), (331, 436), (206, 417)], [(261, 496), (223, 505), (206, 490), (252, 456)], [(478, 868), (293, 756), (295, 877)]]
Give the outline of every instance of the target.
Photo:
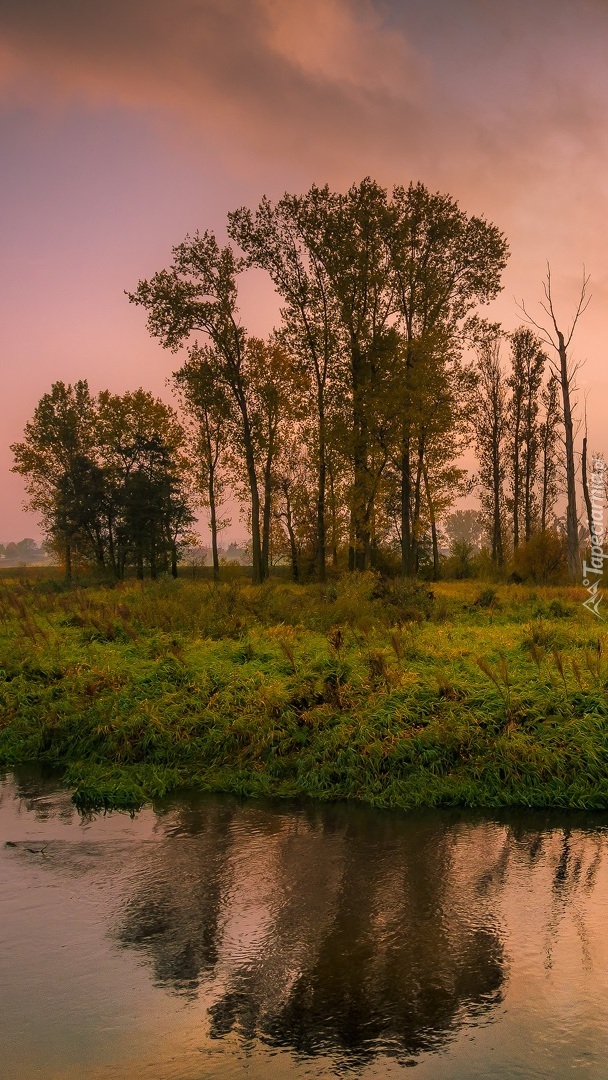
[(307, 178), (483, 179), (494, 205), (604, 164), (605, 30), (596, 0), (0, 0), (0, 102), (119, 105)]

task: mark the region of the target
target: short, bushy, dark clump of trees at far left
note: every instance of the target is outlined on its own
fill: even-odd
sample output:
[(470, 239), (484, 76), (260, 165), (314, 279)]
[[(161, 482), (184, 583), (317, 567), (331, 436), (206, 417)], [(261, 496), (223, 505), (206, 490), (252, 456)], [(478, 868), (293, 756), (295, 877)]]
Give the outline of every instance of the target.
[(53, 384), (13, 446), (29, 505), (48, 540), (122, 578), (130, 558), (143, 577), (177, 572), (177, 548), (193, 517), (184, 481), (184, 433), (173, 411), (144, 390), (122, 396), (86, 382)]

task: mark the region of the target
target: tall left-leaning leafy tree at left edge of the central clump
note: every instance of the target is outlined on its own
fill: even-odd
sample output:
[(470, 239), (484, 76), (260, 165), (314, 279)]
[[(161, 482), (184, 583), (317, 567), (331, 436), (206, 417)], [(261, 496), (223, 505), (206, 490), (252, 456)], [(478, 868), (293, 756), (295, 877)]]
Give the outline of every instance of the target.
[(173, 264), (149, 281), (140, 281), (132, 303), (148, 313), (148, 329), (176, 352), (193, 333), (214, 346), (217, 376), (229, 389), (239, 418), (249, 488), (253, 578), (264, 579), (260, 500), (252, 420), (247, 397), (246, 332), (238, 309), (238, 276), (243, 262), (230, 245), (220, 247), (212, 232), (195, 233), (173, 249)]

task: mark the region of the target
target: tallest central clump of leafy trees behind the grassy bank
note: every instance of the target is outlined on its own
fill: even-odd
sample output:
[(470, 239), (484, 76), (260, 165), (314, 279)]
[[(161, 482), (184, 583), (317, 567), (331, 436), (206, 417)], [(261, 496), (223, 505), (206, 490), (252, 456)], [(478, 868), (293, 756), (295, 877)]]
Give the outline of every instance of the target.
[[(300, 544), (300, 570), (312, 549), (323, 580), (328, 546), (336, 564), (348, 537), (351, 569), (369, 567), (379, 544), (398, 538), (402, 569), (416, 572), (427, 528), (436, 569), (436, 514), (457, 476), (448, 456), (458, 453), (463, 427), (460, 356), (474, 308), (500, 288), (504, 237), (449, 195), (423, 185), (389, 194), (369, 177), (346, 192), (313, 185), (275, 203), (262, 199), (254, 212), (230, 214), (228, 231), (242, 256), (210, 232), (188, 237), (170, 269), (140, 281), (130, 299), (146, 309), (164, 347), (176, 350), (200, 334), (213, 349), (213, 379), (230, 399), (238, 492), (246, 477), (254, 580), (268, 573), (273, 499), (286, 514), (293, 488), (282, 467), (279, 483), (272, 464), (292, 397), (306, 400), (288, 423), (308, 441), (306, 499), (299, 485), (297, 505), (310, 508), (311, 497), (315, 503), (313, 532), (302, 509), (299, 539), (291, 494), (291, 525), (281, 516), (287, 532), (294, 528), (293, 551)], [(254, 266), (269, 273), (282, 300), (272, 348), (281, 343), (289, 357), (289, 393), (269, 379), (276, 383), (284, 366), (280, 353), (256, 363), (271, 342), (249, 340), (239, 318), (238, 278)]]

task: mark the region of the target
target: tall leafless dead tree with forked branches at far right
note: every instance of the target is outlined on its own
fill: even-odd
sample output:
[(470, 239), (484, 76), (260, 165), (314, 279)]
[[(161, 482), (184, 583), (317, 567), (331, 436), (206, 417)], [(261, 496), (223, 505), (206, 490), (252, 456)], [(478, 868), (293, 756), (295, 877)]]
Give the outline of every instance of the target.
[[(542, 284), (544, 300), (540, 301), (540, 307), (549, 319), (549, 325), (545, 326), (538, 323), (536, 319), (532, 319), (526, 310), (524, 302), (519, 305), (521, 310), (524, 312), (528, 323), (536, 326), (542, 336), (544, 345), (548, 345), (551, 349), (553, 349), (557, 355), (557, 361), (552, 361), (551, 364), (553, 370), (559, 379), (559, 386), (562, 388), (562, 415), (564, 420), (564, 441), (566, 446), (566, 536), (568, 542), (568, 572), (572, 579), (577, 577), (580, 570), (579, 521), (577, 514), (577, 469), (575, 463), (575, 428), (572, 420), (572, 394), (577, 389), (575, 379), (577, 372), (580, 368), (580, 363), (573, 364), (571, 362), (568, 350), (570, 348), (577, 323), (583, 312), (586, 311), (591, 300), (591, 296), (587, 295), (589, 280), (589, 274), (584, 272), (583, 268), (583, 280), (579, 294), (579, 302), (577, 305), (570, 327), (566, 332), (562, 330), (557, 323), (551, 291), (551, 267), (549, 264), (546, 266), (546, 279)], [(573, 404), (576, 406), (576, 402)]]

